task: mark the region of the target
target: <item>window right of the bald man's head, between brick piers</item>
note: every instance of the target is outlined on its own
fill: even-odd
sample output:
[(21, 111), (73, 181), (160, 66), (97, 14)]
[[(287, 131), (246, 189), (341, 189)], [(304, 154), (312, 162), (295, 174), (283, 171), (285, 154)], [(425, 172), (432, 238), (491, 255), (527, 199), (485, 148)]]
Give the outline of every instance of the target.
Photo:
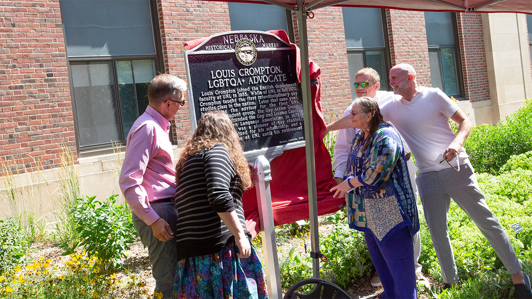
[(447, 96), (464, 99), (456, 14), (425, 12), (425, 28), (432, 86)]

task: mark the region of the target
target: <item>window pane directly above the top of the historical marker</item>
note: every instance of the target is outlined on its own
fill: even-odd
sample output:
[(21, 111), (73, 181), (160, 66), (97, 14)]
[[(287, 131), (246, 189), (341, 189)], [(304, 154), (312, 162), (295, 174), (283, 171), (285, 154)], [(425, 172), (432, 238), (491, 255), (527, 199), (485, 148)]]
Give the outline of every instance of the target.
[[(277, 5), (229, 2), (231, 30), (285, 30), (292, 40), (292, 13)], [(252, 13), (250, 13), (252, 12)]]

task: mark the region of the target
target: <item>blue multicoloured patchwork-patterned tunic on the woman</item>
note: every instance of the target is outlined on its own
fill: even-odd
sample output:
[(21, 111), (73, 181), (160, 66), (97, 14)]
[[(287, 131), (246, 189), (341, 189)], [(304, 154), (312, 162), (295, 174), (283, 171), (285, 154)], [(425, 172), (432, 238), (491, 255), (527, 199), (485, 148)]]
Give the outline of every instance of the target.
[[(346, 177), (358, 177), (361, 187), (346, 193), (349, 227), (371, 232), (384, 245), (392, 234), (409, 226), (413, 236), (419, 230), (417, 203), (406, 168), (403, 144), (397, 131), (381, 125), (362, 151), (364, 138), (357, 130), (347, 158)], [(356, 140), (362, 138), (359, 144)]]

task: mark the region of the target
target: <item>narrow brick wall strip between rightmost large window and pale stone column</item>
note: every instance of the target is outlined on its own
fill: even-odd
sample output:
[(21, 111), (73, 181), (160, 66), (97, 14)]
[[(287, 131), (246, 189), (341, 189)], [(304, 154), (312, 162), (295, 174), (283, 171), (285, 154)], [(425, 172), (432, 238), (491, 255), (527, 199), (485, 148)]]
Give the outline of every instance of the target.
[(476, 13), (457, 13), (456, 21), (462, 56), (465, 99), (471, 102), (488, 100), (489, 82), (482, 16)]

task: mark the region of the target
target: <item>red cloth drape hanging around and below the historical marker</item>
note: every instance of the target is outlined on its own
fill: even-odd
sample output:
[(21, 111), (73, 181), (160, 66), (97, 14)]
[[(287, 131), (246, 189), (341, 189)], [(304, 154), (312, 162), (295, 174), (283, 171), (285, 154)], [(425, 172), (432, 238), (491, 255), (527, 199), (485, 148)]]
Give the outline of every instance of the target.
[[(284, 30), (268, 31), (290, 43)], [(202, 39), (188, 41), (185, 45), (190, 49), (202, 43)], [(292, 43), (290, 43), (292, 44)], [(297, 76), (301, 82), (300, 49), (297, 49)], [(320, 68), (309, 59), (311, 95), (312, 95), (312, 124), (314, 130), (314, 157), (316, 168), (316, 188), (318, 214), (328, 214), (338, 211), (344, 205), (344, 198), (334, 198), (329, 192), (336, 186), (332, 177), (331, 157), (323, 140), (321, 132), (325, 130), (320, 103)], [(271, 177), (270, 193), (275, 225), (292, 223), (309, 218), (309, 201), (306, 175), (305, 147), (289, 149), (270, 161)], [(246, 190), (242, 200), (246, 215), (246, 226), (252, 235), (260, 231), (259, 210), (257, 207), (255, 188)]]

